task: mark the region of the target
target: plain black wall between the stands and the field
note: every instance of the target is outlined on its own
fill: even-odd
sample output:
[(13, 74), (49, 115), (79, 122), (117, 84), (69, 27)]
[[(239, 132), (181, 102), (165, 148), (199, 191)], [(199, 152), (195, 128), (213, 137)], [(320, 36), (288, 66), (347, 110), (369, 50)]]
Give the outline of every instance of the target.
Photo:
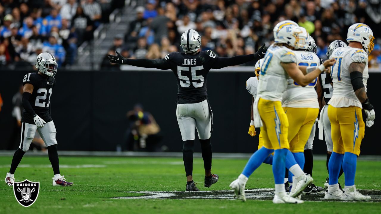
[[(29, 72), (2, 70), (0, 150), (8, 145), (14, 124), (12, 97), (26, 73)], [(245, 82), (252, 75), (251, 72), (209, 73), (208, 97), (214, 116), (213, 152), (252, 153), (257, 149), (258, 136), (247, 134), (251, 96)], [(380, 79), (381, 73), (370, 73), (368, 96), (376, 113), (381, 115)], [(123, 137), (128, 127), (126, 112), (140, 103), (160, 125), (161, 144), (168, 146), (171, 152), (180, 152), (182, 141), (176, 120), (176, 93), (176, 78), (167, 71), (58, 71), (51, 105), (59, 149), (115, 151), (118, 144), (124, 143)], [(365, 128), (362, 154), (380, 154), (381, 122), (378, 123), (377, 118), (372, 128)], [(200, 145), (195, 145), (195, 151), (200, 152)], [(316, 137), (314, 153), (324, 154), (326, 149), (325, 143)]]

